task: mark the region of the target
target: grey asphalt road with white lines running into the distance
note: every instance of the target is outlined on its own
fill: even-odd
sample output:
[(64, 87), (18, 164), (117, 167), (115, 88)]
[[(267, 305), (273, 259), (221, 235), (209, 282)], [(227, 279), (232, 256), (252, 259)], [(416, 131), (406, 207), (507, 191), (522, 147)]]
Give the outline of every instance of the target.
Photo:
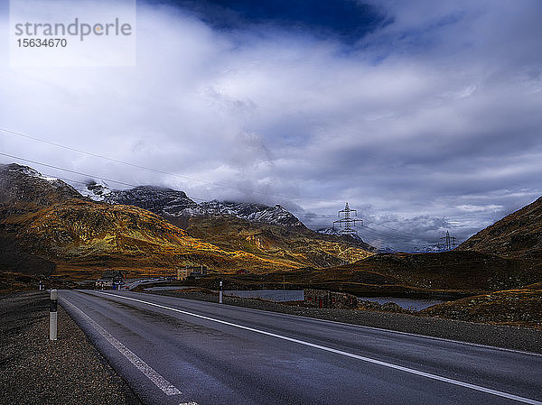
[(59, 292), (149, 404), (542, 405), (539, 354), (191, 299)]

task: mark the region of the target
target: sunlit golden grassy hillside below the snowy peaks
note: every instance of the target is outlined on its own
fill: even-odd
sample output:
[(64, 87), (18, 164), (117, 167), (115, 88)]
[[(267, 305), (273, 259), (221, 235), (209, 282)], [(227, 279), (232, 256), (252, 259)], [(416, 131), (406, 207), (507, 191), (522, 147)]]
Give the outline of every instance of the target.
[(294, 263), (226, 252), (188, 235), (160, 216), (132, 206), (69, 199), (38, 211), (8, 216), (2, 226), (27, 250), (61, 268), (163, 268), (207, 265), (224, 271), (292, 268)]

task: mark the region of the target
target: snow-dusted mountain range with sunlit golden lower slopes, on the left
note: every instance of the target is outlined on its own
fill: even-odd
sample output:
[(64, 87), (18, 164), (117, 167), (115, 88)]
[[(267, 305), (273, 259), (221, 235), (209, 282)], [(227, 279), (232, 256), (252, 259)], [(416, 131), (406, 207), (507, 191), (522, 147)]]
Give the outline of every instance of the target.
[(49, 273), (54, 263), (55, 275), (83, 276), (106, 267), (172, 273), (184, 265), (273, 272), (371, 254), (361, 241), (317, 234), (280, 206), (196, 204), (173, 189), (88, 186), (83, 196), (32, 168), (1, 166), (0, 238), (9, 244), (3, 244), (0, 264), (21, 270), (13, 258), (26, 255)]

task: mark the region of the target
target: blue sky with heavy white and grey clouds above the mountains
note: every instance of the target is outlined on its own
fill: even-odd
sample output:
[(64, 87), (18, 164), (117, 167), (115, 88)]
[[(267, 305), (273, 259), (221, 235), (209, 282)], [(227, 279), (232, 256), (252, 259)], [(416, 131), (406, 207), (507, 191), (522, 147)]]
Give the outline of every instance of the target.
[(154, 171), (1, 131), (0, 152), (315, 228), (348, 201), (406, 250), (542, 195), (539, 0), (141, 0), (136, 34), (124, 68), (13, 67), (4, 41), (0, 127)]

